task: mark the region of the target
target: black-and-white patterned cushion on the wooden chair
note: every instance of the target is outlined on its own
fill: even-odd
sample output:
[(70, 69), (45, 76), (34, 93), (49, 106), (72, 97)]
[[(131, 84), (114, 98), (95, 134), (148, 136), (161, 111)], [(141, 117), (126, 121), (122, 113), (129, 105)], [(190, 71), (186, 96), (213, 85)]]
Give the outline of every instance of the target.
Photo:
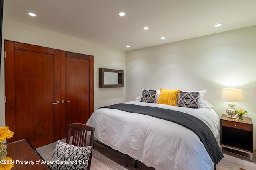
[[(50, 166), (52, 170), (87, 170), (92, 146), (76, 147), (58, 141), (53, 152)], [(66, 163), (60, 163), (66, 161)]]

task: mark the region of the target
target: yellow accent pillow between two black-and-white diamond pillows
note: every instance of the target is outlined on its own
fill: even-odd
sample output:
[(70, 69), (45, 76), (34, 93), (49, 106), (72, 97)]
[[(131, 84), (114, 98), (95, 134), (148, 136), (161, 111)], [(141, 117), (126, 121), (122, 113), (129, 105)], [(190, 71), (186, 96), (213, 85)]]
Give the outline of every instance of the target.
[(158, 104), (168, 104), (172, 106), (177, 106), (177, 99), (180, 90), (167, 90), (160, 88), (160, 94), (157, 103)]

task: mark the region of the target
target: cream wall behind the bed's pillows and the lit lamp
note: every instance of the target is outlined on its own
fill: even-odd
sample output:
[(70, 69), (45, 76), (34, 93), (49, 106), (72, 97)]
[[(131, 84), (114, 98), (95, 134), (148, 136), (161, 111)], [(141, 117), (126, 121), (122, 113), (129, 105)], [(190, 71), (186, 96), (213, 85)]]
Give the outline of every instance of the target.
[[(189, 30), (188, 30), (189, 31)], [(242, 88), (254, 123), (256, 149), (256, 26), (126, 52), (126, 101), (142, 88), (204, 90), (205, 99), (221, 117), (229, 102), (222, 88)]]

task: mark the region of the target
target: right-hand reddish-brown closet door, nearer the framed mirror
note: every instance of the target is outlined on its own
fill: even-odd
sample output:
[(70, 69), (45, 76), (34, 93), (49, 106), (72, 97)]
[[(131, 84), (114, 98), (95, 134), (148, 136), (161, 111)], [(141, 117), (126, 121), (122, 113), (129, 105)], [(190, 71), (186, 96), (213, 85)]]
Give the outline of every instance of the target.
[(68, 124), (86, 123), (93, 112), (93, 56), (65, 52), (61, 66), (61, 138)]

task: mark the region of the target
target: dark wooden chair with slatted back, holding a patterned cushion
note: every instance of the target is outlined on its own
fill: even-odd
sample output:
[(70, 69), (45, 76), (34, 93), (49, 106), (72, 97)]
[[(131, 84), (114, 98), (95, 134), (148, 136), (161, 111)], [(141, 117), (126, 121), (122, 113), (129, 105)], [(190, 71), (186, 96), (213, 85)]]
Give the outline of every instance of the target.
[[(90, 136), (90, 141), (89, 141), (88, 145), (93, 147), (94, 130), (95, 130), (94, 127), (91, 127), (89, 125), (82, 124), (82, 123), (69, 124), (68, 135), (67, 135), (67, 138), (66, 138), (66, 143), (68, 143), (68, 144), (70, 143), (70, 136), (71, 136), (71, 131), (72, 130), (74, 131), (73, 132), (72, 145), (78, 146), (78, 147), (85, 147), (86, 146), (86, 139), (87, 139), (87, 132), (90, 131), (91, 136)], [(92, 160), (92, 153), (91, 153), (90, 158), (89, 158), (89, 163), (88, 163), (87, 170), (90, 170), (90, 168), (91, 168), (91, 160)]]

